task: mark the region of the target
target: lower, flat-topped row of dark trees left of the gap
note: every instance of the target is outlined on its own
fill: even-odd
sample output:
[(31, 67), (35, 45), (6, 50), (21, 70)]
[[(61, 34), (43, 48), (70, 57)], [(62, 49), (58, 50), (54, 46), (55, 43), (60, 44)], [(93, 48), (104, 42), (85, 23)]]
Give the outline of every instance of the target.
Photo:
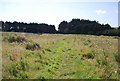
[(56, 33), (54, 25), (45, 23), (2, 22), (2, 31), (27, 33)]

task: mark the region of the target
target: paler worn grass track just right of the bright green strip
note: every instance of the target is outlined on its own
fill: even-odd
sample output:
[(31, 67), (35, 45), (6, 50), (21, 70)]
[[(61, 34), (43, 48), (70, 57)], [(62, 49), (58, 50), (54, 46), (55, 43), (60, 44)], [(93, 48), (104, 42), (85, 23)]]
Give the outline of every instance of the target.
[[(70, 74), (69, 71), (71, 71), (71, 73), (72, 73), (72, 69), (74, 69), (74, 65), (72, 64), (72, 60), (70, 58), (70, 53), (71, 53), (71, 46), (69, 44), (70, 40), (71, 40), (70, 38), (66, 38), (64, 41), (63, 54), (60, 57), (61, 61), (60, 61), (60, 65), (59, 65), (58, 69), (56, 70), (56, 75), (54, 76), (55, 79), (67, 78), (67, 75)], [(72, 44), (73, 43), (71, 43), (71, 45)], [(69, 76), (69, 78), (70, 78), (70, 76)]]

